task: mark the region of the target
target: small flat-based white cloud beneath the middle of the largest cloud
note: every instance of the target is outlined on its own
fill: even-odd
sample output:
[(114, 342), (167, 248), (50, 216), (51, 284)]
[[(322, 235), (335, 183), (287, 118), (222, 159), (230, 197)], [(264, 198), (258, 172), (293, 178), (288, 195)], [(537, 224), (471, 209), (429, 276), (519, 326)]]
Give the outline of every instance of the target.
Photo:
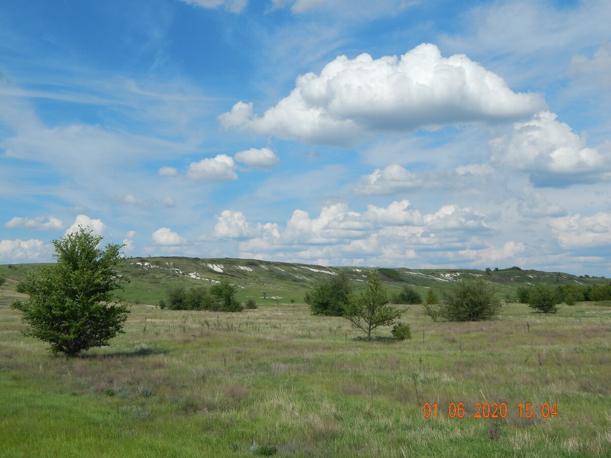
[(408, 169), (390, 164), (385, 169), (375, 169), (370, 175), (361, 176), (354, 192), (363, 195), (395, 194), (419, 186), (422, 186), (422, 182)]

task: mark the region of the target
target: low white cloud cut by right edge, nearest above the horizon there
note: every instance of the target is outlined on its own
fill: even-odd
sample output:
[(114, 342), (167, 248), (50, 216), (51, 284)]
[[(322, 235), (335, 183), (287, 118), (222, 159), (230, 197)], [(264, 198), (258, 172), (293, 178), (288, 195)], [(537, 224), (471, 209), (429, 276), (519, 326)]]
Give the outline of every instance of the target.
[(611, 214), (594, 216), (563, 216), (550, 220), (555, 238), (563, 249), (609, 247), (611, 245)]

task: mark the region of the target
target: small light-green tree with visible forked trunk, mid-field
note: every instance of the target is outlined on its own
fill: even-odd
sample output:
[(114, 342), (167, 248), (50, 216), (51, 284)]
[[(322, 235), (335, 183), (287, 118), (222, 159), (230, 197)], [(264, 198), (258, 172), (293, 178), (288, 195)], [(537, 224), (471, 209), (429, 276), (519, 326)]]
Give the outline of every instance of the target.
[(390, 294), (382, 287), (378, 274), (370, 273), (367, 277), (367, 287), (350, 298), (344, 317), (354, 327), (367, 333), (367, 340), (371, 340), (372, 330), (378, 326), (392, 326), (403, 310), (387, 305)]

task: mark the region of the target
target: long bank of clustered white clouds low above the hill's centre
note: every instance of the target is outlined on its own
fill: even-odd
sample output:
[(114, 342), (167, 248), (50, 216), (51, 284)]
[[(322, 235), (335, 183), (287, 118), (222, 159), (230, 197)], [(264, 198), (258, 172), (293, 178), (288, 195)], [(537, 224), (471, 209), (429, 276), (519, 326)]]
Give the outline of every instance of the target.
[(244, 239), (239, 244), (242, 256), (282, 255), (284, 259), (294, 256), (353, 264), (365, 258), (379, 263), (413, 260), (418, 257), (416, 250), (423, 247), (429, 251), (467, 249), (467, 242), (478, 231), (487, 230), (483, 214), (474, 209), (448, 205), (422, 215), (409, 200), (401, 200), (386, 207), (368, 205), (362, 213), (351, 211), (345, 203), (326, 205), (314, 217), (296, 209), (284, 227), (253, 225), (240, 212), (225, 211), (213, 234)]

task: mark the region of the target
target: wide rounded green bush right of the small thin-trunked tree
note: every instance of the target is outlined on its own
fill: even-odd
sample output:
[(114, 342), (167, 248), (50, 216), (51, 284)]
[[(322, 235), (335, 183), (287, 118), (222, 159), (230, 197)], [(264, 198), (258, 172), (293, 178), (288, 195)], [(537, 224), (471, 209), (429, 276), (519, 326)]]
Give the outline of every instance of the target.
[(499, 313), (500, 301), (483, 280), (463, 279), (444, 292), (443, 318), (449, 321), (481, 321)]

